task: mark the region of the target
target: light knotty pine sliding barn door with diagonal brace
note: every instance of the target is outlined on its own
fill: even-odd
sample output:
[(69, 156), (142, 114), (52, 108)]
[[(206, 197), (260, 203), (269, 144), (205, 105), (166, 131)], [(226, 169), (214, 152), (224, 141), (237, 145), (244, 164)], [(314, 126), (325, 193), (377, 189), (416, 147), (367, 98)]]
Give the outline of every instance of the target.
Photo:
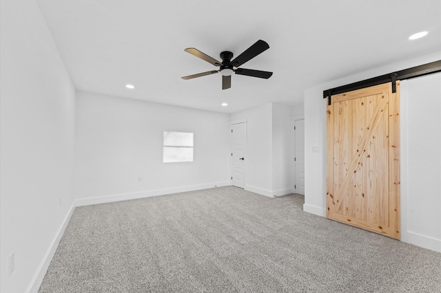
[(400, 239), (400, 101), (391, 83), (331, 97), (327, 217)]

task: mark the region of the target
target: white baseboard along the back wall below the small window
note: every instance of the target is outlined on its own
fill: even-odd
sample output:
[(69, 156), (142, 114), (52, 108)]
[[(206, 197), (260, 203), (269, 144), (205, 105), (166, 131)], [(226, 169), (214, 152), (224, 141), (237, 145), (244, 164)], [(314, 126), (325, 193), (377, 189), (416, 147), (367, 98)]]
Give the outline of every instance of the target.
[(153, 197), (158, 195), (169, 195), (172, 193), (184, 193), (186, 191), (198, 191), (201, 189), (214, 188), (220, 186), (229, 186), (229, 181), (213, 182), (207, 184), (199, 184), (192, 186), (182, 186), (177, 188), (156, 189), (153, 191), (143, 191), (141, 193), (126, 193), (121, 195), (104, 195), (100, 197), (89, 197), (76, 199), (76, 206), (90, 206), (91, 204), (106, 204), (108, 202), (121, 202), (129, 199), (139, 199), (145, 197)]

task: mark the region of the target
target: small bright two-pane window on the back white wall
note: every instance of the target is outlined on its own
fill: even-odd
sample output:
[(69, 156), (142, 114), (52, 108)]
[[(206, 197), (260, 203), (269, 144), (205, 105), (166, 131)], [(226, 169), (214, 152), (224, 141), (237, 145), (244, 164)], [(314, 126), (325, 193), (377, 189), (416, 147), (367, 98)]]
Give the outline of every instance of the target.
[(164, 131), (163, 162), (193, 162), (193, 133)]

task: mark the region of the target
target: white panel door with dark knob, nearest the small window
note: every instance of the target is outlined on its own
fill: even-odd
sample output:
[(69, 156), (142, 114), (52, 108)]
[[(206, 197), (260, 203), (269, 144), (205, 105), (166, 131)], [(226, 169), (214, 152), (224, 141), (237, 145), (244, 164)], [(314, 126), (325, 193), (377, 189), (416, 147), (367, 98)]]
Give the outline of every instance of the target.
[(232, 124), (232, 185), (245, 187), (245, 122)]

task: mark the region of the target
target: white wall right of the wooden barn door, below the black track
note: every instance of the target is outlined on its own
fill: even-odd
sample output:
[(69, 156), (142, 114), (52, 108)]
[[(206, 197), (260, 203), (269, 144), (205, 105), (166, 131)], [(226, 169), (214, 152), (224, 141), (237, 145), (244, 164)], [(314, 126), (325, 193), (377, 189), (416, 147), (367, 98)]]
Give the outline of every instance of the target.
[(402, 240), (441, 252), (441, 74), (400, 90)]

